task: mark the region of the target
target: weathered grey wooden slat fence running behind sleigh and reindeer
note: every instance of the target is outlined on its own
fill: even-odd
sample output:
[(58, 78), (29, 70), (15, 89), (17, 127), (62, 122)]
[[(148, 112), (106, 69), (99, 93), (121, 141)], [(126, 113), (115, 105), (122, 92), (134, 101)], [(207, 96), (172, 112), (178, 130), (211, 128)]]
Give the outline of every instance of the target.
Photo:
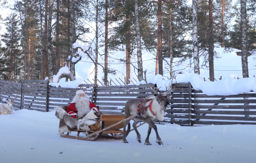
[[(150, 85), (154, 88), (155, 85)], [(68, 105), (75, 92), (83, 89), (93, 103), (105, 114), (123, 114), (127, 100), (153, 94), (145, 85), (98, 86), (80, 85), (79, 88), (55, 88), (47, 80), (22, 80), (20, 83), (0, 80), (0, 101), (13, 99), (17, 109), (27, 108), (42, 112), (53, 111), (56, 106)], [(196, 91), (190, 83), (176, 84), (171, 107), (165, 122), (180, 125), (256, 124), (256, 93), (230, 96), (207, 96)]]

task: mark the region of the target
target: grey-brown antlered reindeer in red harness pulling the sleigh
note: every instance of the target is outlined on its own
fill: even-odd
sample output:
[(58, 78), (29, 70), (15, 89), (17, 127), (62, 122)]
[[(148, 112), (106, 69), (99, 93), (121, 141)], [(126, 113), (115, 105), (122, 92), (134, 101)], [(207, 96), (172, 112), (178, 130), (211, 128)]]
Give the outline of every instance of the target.
[[(146, 70), (144, 71), (144, 76), (145, 76), (145, 82), (146, 82)], [(173, 84), (173, 80), (172, 80), (172, 84)], [(172, 86), (172, 84), (170, 84), (170, 86)], [(151, 89), (147, 82), (146, 85), (149, 89)], [(160, 88), (159, 88), (160, 89)], [(146, 99), (148, 99), (145, 103), (141, 103), (142, 99), (131, 99), (129, 101), (127, 101), (125, 103), (125, 118), (129, 118), (131, 116), (135, 116), (137, 115), (135, 118), (133, 118), (134, 123), (133, 123), (133, 128), (135, 130), (135, 132), (137, 133), (137, 140), (139, 143), (141, 143), (141, 138), (140, 138), (140, 133), (137, 130), (137, 124), (140, 121), (144, 121), (148, 124), (148, 131), (147, 131), (147, 137), (145, 140), (145, 145), (152, 145), (149, 141), (150, 138), (150, 133), (151, 133), (151, 129), (153, 128), (156, 131), (156, 135), (157, 135), (157, 143), (159, 145), (163, 145), (161, 138), (159, 137), (158, 131), (157, 131), (157, 126), (155, 125), (155, 122), (157, 120), (159, 121), (163, 121), (164, 120), (164, 113), (165, 113), (165, 108), (167, 106), (169, 106), (169, 98), (172, 97), (170, 95), (170, 93), (174, 90), (174, 88), (172, 87), (170, 89), (170, 87), (168, 87), (167, 90), (167, 94), (159, 94), (158, 90), (152, 89), (156, 96), (154, 95), (150, 95), (148, 96)], [(145, 108), (144, 110), (144, 114), (138, 113), (138, 104), (142, 104)], [(143, 112), (142, 112), (143, 113)], [(126, 125), (130, 122), (130, 120), (125, 121), (123, 123), (123, 143), (128, 143), (126, 140), (126, 135), (125, 135), (125, 127)]]

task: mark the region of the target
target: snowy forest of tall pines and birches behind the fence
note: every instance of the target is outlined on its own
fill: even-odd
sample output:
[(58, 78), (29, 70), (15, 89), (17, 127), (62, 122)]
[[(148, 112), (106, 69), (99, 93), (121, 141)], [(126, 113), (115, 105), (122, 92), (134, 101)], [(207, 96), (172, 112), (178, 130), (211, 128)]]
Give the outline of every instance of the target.
[[(127, 79), (134, 69), (141, 81), (142, 50), (154, 54), (155, 74), (171, 78), (173, 59), (189, 58), (197, 74), (200, 65), (208, 65), (211, 81), (214, 47), (241, 50), (243, 77), (249, 77), (247, 57), (256, 55), (255, 0), (0, 0), (0, 4), (1, 11), (11, 11), (0, 13), (0, 79), (12, 82), (46, 77), (52, 82), (63, 66), (70, 73), (59, 79), (75, 80), (81, 53), (95, 65), (94, 81), (103, 73), (99, 80), (106, 86), (108, 75), (117, 73), (108, 67), (110, 59), (125, 64)], [(125, 52), (125, 57), (115, 58), (115, 51)], [(204, 63), (199, 64), (199, 57)], [(163, 62), (169, 68), (163, 68)]]

